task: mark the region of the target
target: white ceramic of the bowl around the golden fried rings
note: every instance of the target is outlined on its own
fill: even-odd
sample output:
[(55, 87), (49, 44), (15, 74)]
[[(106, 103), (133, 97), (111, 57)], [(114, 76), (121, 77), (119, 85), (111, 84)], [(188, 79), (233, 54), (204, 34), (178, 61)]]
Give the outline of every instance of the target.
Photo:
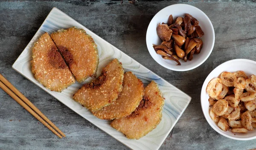
[[(211, 117), (209, 116), (209, 95), (206, 92), (206, 87), (211, 81), (211, 79), (217, 78), (222, 72), (236, 72), (236, 71), (244, 71), (247, 76), (251, 76), (252, 74), (256, 74), (256, 62), (248, 59), (233, 59), (216, 67), (205, 79), (204, 85), (201, 90), (201, 107), (204, 113), (204, 116), (209, 123), (209, 125), (218, 133), (223, 136), (226, 136), (230, 139), (236, 140), (250, 140), (256, 139), (256, 130), (248, 131), (248, 133), (232, 133), (230, 131), (223, 131), (221, 130), (215, 122), (212, 121)], [(236, 134), (236, 135), (235, 135)]]

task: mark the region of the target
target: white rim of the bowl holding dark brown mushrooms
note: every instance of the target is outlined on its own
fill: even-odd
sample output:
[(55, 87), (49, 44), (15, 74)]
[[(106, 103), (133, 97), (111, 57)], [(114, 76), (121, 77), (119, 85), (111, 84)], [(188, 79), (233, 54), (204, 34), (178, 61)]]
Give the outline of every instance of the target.
[[(147, 45), (147, 48), (148, 48), (148, 52), (149, 54), (151, 55), (151, 57), (161, 66), (169, 69), (169, 70), (173, 70), (173, 71), (189, 71), (189, 70), (192, 70), (192, 69), (195, 69), (197, 68), (198, 66), (202, 65), (210, 56), (210, 54), (212, 53), (212, 50), (213, 50), (213, 47), (214, 47), (214, 44), (215, 44), (215, 31), (214, 31), (214, 28), (213, 28), (213, 25), (212, 25), (212, 22), (211, 20), (209, 19), (209, 17), (204, 13), (204, 11), (201, 11), (199, 8), (195, 7), (195, 6), (192, 6), (192, 5), (188, 5), (188, 4), (174, 4), (174, 5), (170, 5), (170, 6), (167, 6), (163, 9), (161, 9), (160, 11), (157, 12), (157, 14), (154, 15), (154, 17), (151, 19), (150, 23), (148, 24), (148, 27), (149, 25), (152, 23), (152, 20), (157, 17), (158, 14), (160, 14), (161, 11), (163, 11), (164, 9), (168, 9), (168, 8), (171, 8), (171, 7), (178, 7), (178, 6), (188, 6), (188, 7), (191, 7), (191, 8), (194, 8), (194, 9), (197, 9), (198, 11), (200, 11), (206, 18), (207, 18), (207, 21), (209, 21), (210, 23), (210, 28), (212, 29), (212, 36), (213, 36), (213, 41), (212, 41), (212, 47), (208, 53), (208, 55), (198, 64), (198, 65), (195, 65), (191, 68), (186, 68), (186, 69), (175, 69), (175, 68), (172, 68), (171, 66), (167, 66), (167, 65), (163, 65), (163, 64), (160, 64), (159, 62), (157, 62), (157, 60), (152, 56), (152, 54), (150, 53), (149, 51), (149, 46), (147, 44), (147, 41), (148, 41), (148, 37), (149, 37), (149, 28), (147, 28), (147, 32), (146, 32), (146, 45)], [(151, 43), (152, 44), (152, 43)]]

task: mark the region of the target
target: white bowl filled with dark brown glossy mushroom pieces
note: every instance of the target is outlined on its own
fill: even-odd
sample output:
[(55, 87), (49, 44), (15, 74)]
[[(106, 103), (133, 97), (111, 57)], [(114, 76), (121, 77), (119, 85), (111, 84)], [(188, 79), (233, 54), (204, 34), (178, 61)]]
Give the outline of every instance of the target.
[(153, 59), (173, 71), (189, 71), (206, 61), (215, 42), (211, 21), (200, 9), (175, 4), (148, 25), (146, 43)]

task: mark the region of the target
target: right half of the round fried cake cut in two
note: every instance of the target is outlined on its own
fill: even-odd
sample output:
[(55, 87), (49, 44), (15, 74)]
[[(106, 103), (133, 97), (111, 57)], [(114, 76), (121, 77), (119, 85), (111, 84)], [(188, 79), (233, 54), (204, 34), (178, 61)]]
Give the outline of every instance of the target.
[(99, 64), (97, 45), (83, 29), (61, 29), (51, 37), (78, 82), (96, 74)]

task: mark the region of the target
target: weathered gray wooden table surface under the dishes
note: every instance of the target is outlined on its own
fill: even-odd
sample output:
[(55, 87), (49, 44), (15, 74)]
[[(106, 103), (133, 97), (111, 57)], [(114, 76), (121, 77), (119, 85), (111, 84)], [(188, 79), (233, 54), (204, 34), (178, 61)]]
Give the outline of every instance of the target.
[[(176, 3), (186, 3), (204, 11), (215, 30), (212, 54), (192, 71), (176, 72), (163, 68), (151, 58), (146, 47), (145, 34), (152, 17), (162, 8)], [(11, 68), (52, 7), (64, 11), (192, 96), (188, 108), (160, 150), (248, 150), (256, 147), (256, 140), (236, 141), (215, 132), (204, 118), (200, 104), (204, 79), (215, 67), (230, 59), (255, 60), (255, 0), (139, 0), (135, 5), (125, 0), (123, 4), (120, 1), (34, 0), (0, 2), (0, 73), (67, 137), (59, 139), (0, 90), (0, 150), (128, 149)]]

